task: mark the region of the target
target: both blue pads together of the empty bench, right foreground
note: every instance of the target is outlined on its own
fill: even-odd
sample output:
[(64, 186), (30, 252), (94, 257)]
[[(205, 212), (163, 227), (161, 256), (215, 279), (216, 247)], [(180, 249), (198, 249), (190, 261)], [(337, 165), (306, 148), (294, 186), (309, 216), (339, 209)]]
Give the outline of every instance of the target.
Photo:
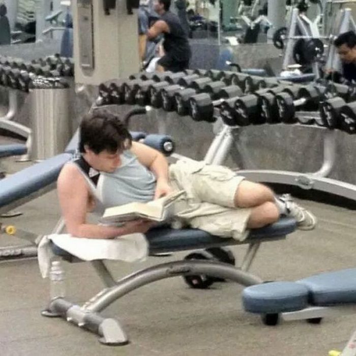
[(356, 303), (356, 269), (326, 272), (297, 282), (254, 285), (243, 292), (245, 310), (259, 314), (345, 303)]

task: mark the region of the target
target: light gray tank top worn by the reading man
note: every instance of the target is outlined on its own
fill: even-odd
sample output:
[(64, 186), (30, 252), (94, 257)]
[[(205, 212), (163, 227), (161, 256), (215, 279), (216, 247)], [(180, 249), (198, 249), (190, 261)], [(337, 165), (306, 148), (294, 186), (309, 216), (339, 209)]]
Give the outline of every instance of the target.
[(130, 151), (124, 151), (121, 159), (121, 166), (113, 173), (100, 172), (97, 194), (105, 209), (133, 201), (147, 202), (155, 195), (155, 175)]

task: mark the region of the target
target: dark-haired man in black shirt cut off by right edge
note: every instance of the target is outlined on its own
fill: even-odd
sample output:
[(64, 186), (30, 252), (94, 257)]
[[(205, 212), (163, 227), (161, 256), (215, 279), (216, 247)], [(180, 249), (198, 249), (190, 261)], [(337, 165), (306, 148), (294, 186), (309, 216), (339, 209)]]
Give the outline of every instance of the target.
[(334, 41), (342, 62), (342, 75), (347, 81), (356, 81), (356, 34), (345, 32)]

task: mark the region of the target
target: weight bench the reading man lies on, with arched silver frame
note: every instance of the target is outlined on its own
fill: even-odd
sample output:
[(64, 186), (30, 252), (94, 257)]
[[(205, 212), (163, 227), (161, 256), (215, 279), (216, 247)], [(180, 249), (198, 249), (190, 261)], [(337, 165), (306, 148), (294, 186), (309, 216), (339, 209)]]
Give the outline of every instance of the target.
[[(147, 232), (149, 254), (177, 252), (192, 249), (206, 249), (230, 245), (248, 244), (248, 250), (240, 266), (232, 266), (218, 260), (184, 259), (160, 263), (138, 271), (119, 281), (115, 281), (106, 268), (103, 260), (91, 261), (105, 288), (91, 298), (83, 306), (75, 305), (64, 298), (50, 301), (44, 316), (62, 316), (79, 327), (99, 334), (99, 341), (107, 345), (123, 345), (128, 337), (120, 323), (113, 318), (104, 318), (99, 313), (121, 296), (143, 285), (175, 276), (205, 275), (229, 279), (244, 286), (262, 283), (262, 280), (248, 270), (262, 242), (284, 239), (296, 228), (295, 221), (290, 218), (280, 219), (275, 224), (251, 230), (248, 238), (239, 242), (233, 239), (219, 238), (199, 229), (174, 230), (168, 227), (155, 228)], [(63, 259), (76, 262), (77, 257), (52, 243), (52, 251)]]

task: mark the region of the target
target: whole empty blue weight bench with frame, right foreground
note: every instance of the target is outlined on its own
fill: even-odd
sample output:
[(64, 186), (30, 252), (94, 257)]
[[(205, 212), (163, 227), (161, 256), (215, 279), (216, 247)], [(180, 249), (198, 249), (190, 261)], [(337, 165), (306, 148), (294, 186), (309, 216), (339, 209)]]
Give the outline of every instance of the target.
[(243, 291), (243, 304), (246, 311), (260, 314), (265, 325), (276, 325), (279, 319), (319, 323), (325, 316), (354, 309), (356, 269), (251, 286)]

